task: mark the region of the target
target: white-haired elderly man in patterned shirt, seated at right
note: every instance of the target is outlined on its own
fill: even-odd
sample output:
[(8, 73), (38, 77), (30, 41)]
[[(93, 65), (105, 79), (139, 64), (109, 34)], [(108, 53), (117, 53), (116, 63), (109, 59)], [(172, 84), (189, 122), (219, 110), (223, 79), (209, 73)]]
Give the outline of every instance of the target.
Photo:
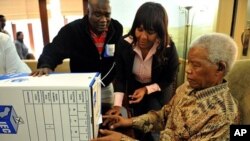
[[(224, 76), (232, 68), (237, 55), (236, 43), (227, 35), (205, 34), (190, 47), (186, 68), (187, 82), (176, 90), (170, 103), (160, 111), (130, 119), (104, 116), (112, 121), (111, 129), (130, 127), (144, 132), (161, 131), (161, 141), (229, 140), (231, 124), (239, 122), (238, 106)], [(135, 140), (111, 130), (93, 141)]]

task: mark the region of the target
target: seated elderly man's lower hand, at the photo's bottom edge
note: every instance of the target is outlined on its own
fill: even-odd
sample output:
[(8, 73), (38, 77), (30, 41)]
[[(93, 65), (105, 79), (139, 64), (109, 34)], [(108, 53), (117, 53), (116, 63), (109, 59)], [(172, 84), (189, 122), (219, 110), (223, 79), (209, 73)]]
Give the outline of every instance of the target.
[(115, 131), (100, 129), (99, 133), (103, 137), (92, 139), (91, 141), (120, 141), (122, 138), (122, 134)]

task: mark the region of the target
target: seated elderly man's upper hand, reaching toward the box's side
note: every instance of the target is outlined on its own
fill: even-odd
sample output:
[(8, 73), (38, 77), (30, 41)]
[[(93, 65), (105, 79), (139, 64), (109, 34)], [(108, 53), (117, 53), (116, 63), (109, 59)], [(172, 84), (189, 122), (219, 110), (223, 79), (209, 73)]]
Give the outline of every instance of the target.
[(132, 119), (124, 118), (117, 115), (105, 115), (102, 116), (106, 122), (103, 122), (103, 126), (108, 126), (109, 129), (114, 130), (118, 127), (130, 127), (132, 126)]

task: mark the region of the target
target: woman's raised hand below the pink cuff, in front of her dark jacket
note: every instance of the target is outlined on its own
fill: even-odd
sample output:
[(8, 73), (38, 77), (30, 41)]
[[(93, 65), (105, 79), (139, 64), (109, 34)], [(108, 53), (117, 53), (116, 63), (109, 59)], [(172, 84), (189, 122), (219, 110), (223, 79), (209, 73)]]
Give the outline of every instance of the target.
[(129, 104), (134, 104), (134, 103), (141, 102), (141, 100), (143, 99), (145, 94), (147, 94), (147, 88), (146, 87), (142, 87), (142, 88), (139, 88), (139, 89), (135, 90), (133, 95), (129, 95), (129, 98), (130, 98)]

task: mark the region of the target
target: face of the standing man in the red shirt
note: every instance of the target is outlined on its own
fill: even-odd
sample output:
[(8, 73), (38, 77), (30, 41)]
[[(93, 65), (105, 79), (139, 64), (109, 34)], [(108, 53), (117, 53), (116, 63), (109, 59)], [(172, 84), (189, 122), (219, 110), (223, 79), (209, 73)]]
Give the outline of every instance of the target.
[(92, 30), (96, 34), (107, 31), (111, 17), (111, 8), (109, 2), (97, 2), (89, 7), (89, 22)]

